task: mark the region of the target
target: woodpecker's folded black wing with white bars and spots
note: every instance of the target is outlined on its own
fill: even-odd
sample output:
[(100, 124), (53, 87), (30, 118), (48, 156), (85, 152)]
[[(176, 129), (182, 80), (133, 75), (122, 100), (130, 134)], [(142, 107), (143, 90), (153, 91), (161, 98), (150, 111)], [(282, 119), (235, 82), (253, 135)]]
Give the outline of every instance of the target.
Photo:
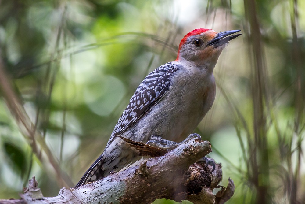
[(154, 106), (160, 100), (169, 88), (170, 75), (177, 70), (178, 66), (173, 62), (169, 62), (158, 67), (145, 77), (119, 118), (107, 147), (118, 135), (122, 135), (131, 125), (135, 124), (149, 110), (149, 107)]

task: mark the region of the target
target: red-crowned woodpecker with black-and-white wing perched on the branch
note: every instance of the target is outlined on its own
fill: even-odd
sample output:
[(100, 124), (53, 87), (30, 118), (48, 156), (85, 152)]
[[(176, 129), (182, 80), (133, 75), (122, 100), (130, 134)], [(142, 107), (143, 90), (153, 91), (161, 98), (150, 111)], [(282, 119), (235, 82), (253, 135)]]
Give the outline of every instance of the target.
[[(119, 135), (170, 149), (179, 144), (170, 140), (191, 134), (213, 105), (216, 90), (213, 69), (217, 59), (226, 44), (241, 35), (231, 34), (239, 31), (217, 33), (200, 28), (185, 35), (177, 59), (152, 71), (136, 89), (104, 152), (75, 188), (100, 180), (139, 159), (137, 150)], [(195, 136), (191, 134), (185, 141)]]

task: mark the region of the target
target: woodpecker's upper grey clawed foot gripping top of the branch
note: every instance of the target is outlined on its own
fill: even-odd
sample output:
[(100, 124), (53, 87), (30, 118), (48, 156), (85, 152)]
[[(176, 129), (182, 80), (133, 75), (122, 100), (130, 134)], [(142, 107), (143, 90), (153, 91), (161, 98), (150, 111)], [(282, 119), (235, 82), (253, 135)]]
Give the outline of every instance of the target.
[(191, 139), (194, 139), (194, 138), (199, 138), (199, 141), (201, 140), (200, 135), (198, 135), (196, 133), (188, 135), (188, 137), (180, 143), (170, 141), (170, 140), (167, 140), (167, 139), (163, 139), (160, 136), (153, 135), (151, 137), (151, 140), (149, 140), (146, 144), (149, 144), (149, 145), (154, 146), (154, 147), (159, 147), (159, 148), (164, 149), (164, 150), (173, 150), (177, 146), (179, 146), (181, 144), (184, 144), (184, 143), (187, 143), (188, 141), (190, 141)]

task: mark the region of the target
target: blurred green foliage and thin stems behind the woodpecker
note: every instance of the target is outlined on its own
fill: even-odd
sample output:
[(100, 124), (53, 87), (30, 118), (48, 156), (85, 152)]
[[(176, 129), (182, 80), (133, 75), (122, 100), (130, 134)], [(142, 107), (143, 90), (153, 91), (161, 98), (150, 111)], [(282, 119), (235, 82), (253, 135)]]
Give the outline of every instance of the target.
[(2, 91), (0, 198), (19, 198), (33, 175), (44, 196), (75, 184), (142, 79), (175, 59), (187, 32), (212, 28), (243, 33), (218, 60), (216, 100), (195, 130), (223, 164), (221, 184), (235, 181), (228, 203), (304, 203), (304, 19), (300, 0), (0, 1), (7, 78), (62, 171), (33, 149)]

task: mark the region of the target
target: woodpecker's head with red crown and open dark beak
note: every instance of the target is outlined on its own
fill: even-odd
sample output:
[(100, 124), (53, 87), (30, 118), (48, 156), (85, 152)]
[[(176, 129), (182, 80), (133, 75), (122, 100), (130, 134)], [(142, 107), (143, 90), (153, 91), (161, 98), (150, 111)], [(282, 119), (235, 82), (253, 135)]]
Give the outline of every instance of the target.
[[(212, 29), (195, 29), (184, 36), (179, 45), (176, 61), (186, 60), (195, 65), (215, 66), (221, 51), (232, 39), (242, 34), (231, 35), (240, 30), (217, 33)], [(229, 36), (231, 35), (231, 36)]]

